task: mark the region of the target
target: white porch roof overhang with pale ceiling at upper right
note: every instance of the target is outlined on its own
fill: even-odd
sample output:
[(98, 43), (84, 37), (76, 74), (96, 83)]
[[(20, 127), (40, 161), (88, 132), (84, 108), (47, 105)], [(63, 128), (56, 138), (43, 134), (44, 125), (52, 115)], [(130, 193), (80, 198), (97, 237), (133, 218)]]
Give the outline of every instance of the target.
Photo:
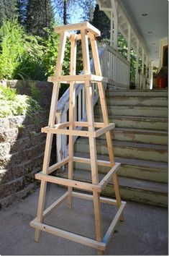
[[(160, 40), (168, 37), (168, 1), (96, 0), (99, 9), (111, 20), (111, 43), (117, 29), (128, 46), (137, 52), (146, 66), (160, 64)], [(117, 25), (116, 25), (117, 23)], [(129, 42), (130, 41), (130, 42)], [(116, 46), (116, 42), (112, 43)], [(116, 48), (116, 47), (115, 47)]]

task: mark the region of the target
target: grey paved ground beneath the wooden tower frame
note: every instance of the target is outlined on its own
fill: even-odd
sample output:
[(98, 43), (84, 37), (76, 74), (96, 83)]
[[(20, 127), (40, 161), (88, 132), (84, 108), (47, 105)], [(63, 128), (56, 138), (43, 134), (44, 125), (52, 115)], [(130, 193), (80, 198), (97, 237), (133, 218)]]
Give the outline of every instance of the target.
[[(47, 205), (54, 202), (65, 189), (50, 184)], [(96, 255), (96, 250), (58, 236), (42, 233), (34, 242), (34, 229), (29, 222), (36, 216), (39, 189), (25, 200), (14, 202), (0, 211), (1, 255)], [(114, 216), (114, 206), (102, 205), (103, 231)], [(105, 255), (168, 255), (168, 210), (127, 202), (125, 221), (119, 223)], [(73, 210), (65, 201), (45, 219), (53, 226), (94, 238), (93, 204), (74, 199)]]

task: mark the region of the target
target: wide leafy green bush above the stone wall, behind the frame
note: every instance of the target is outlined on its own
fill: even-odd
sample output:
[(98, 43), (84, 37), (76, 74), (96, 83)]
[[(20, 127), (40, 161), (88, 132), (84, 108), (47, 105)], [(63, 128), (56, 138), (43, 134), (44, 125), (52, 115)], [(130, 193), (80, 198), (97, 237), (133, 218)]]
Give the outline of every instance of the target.
[[(47, 80), (55, 74), (60, 35), (45, 28), (47, 37), (27, 34), (17, 20), (9, 20), (0, 28), (0, 79)], [(82, 61), (78, 56), (77, 70)], [(70, 42), (67, 40), (63, 74), (70, 70)], [(62, 88), (64, 85), (62, 86)]]

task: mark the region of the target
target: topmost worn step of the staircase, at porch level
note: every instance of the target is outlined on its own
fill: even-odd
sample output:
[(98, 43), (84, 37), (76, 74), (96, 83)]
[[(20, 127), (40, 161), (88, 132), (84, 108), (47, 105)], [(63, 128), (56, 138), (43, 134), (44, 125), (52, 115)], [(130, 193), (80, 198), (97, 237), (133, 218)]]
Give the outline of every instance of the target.
[(106, 96), (168, 97), (168, 90), (106, 90)]

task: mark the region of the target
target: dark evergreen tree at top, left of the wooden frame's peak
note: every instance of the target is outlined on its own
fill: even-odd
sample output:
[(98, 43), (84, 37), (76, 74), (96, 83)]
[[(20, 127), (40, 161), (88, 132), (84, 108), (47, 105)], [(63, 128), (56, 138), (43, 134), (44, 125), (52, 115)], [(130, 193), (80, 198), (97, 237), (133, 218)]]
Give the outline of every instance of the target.
[(47, 36), (45, 27), (50, 28), (54, 14), (50, 0), (28, 0), (25, 27), (32, 35)]

